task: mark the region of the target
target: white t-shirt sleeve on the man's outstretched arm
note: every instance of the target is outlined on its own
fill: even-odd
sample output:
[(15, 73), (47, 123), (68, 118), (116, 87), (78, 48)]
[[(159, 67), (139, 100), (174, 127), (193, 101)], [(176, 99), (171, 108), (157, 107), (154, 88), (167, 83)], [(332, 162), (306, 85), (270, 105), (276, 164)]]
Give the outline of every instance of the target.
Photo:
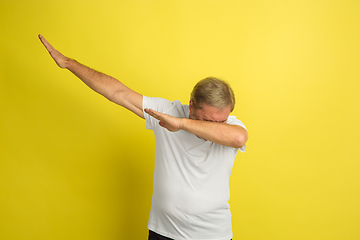
[(151, 108), (155, 111), (164, 113), (167, 109), (171, 108), (172, 106), (173, 103), (164, 98), (143, 96), (143, 112), (146, 120), (146, 129), (153, 129), (154, 126), (156, 126), (159, 123), (159, 120), (145, 113), (144, 109)]

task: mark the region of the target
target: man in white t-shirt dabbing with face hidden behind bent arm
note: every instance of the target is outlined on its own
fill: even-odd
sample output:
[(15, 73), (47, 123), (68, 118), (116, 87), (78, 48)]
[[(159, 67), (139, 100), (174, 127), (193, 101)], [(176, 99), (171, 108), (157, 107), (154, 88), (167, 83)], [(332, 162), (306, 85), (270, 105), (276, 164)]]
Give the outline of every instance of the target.
[(248, 134), (234, 116), (234, 94), (224, 81), (196, 84), (190, 104), (143, 96), (106, 74), (70, 59), (39, 38), (60, 68), (146, 120), (155, 133), (155, 172), (149, 239), (232, 238), (229, 177)]

